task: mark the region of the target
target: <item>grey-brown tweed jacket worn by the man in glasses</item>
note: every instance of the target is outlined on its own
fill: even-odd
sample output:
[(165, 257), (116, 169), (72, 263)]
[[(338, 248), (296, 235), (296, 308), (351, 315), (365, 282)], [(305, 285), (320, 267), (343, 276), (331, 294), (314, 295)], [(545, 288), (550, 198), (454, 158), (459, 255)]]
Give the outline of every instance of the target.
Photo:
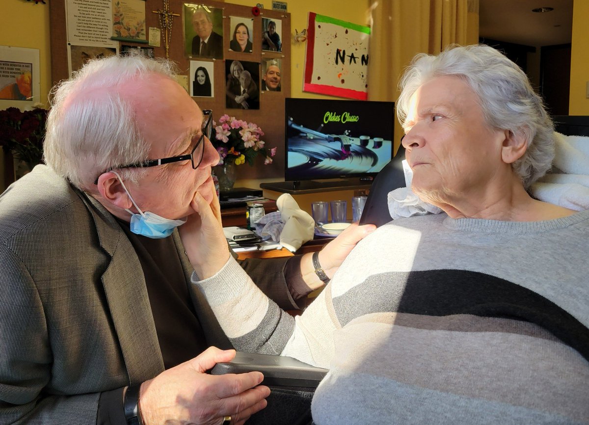
[[(173, 238), (190, 282), (177, 231)], [(244, 268), (296, 308), (285, 263)], [(204, 297), (190, 291), (207, 342), (229, 348)], [(0, 197), (0, 424), (95, 424), (101, 391), (163, 370), (143, 271), (124, 231), (98, 201), (38, 165)]]

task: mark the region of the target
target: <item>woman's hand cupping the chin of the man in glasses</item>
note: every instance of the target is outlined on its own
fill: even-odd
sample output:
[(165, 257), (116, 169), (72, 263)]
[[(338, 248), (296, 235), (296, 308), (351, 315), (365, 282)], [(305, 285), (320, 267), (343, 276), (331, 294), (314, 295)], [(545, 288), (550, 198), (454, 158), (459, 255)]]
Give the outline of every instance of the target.
[(197, 214), (188, 216), (181, 225), (180, 238), (184, 250), (200, 280), (211, 277), (229, 260), (229, 247), (221, 224), (221, 208), (216, 196), (209, 205), (197, 192), (190, 203)]

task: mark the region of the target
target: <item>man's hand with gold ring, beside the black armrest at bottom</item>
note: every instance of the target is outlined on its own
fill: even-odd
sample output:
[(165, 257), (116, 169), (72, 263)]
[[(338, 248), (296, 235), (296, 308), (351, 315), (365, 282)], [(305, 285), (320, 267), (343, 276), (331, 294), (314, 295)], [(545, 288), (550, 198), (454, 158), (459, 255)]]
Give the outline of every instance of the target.
[(210, 347), (141, 384), (139, 406), (144, 425), (220, 425), (225, 416), (231, 416), (231, 425), (241, 425), (264, 409), (270, 389), (257, 386), (264, 378), (262, 373), (206, 373), (233, 357), (235, 350)]

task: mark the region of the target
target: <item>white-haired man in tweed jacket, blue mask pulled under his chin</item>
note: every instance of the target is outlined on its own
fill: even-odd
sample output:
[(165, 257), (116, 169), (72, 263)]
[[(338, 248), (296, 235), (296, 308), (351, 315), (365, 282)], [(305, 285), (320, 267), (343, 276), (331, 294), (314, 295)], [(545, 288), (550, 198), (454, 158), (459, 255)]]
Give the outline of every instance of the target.
[[(0, 197), (1, 423), (243, 424), (266, 406), (261, 373), (206, 373), (234, 351), (207, 348), (232, 347), (184, 243), (206, 243), (200, 211), (220, 220), (219, 155), (171, 67), (110, 57), (62, 82), (47, 165)], [(325, 247), (327, 275), (369, 230)], [(323, 284), (308, 254), (242, 265), (284, 308)]]

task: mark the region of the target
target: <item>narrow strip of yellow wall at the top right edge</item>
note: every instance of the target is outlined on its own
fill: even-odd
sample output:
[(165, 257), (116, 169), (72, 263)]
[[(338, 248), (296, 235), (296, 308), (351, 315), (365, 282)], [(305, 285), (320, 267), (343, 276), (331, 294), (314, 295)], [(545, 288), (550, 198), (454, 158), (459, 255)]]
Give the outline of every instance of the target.
[(570, 115), (589, 115), (587, 81), (589, 81), (589, 1), (575, 0), (573, 4), (573, 41), (571, 49), (571, 88), (568, 101)]

